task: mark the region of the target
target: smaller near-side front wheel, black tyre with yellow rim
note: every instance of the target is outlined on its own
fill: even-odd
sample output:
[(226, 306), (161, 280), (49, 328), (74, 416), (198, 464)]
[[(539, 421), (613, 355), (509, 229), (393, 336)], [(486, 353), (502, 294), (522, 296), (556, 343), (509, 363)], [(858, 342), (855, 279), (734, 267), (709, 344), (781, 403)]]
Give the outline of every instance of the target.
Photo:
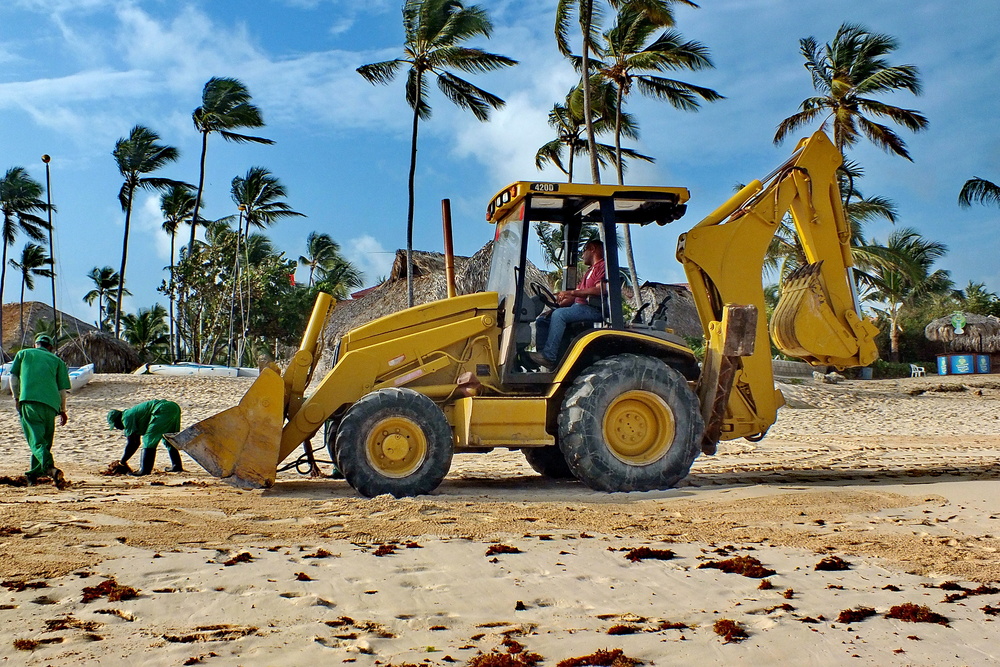
[(438, 487), (454, 443), (434, 401), (412, 389), (380, 389), (344, 413), (335, 450), (337, 468), (358, 493), (402, 498)]

